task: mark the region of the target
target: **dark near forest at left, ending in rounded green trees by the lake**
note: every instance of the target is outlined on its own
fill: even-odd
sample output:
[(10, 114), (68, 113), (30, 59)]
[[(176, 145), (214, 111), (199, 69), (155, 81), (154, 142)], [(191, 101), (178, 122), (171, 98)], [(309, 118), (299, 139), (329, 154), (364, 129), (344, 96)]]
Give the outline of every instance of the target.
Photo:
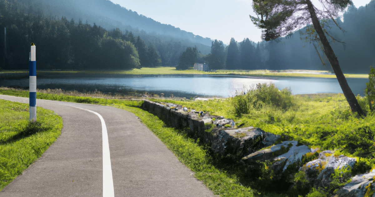
[[(30, 43), (37, 47), (38, 69), (139, 68), (131, 36), (95, 24), (25, 14), (15, 1), (0, 1), (0, 54), (3, 69), (27, 69)], [(6, 39), (4, 39), (6, 35)]]

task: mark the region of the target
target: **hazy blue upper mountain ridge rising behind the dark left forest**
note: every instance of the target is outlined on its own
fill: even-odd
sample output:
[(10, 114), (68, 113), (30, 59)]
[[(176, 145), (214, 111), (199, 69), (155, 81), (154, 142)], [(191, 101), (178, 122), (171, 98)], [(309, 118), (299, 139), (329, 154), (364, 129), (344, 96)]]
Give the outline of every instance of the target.
[(147, 45), (156, 48), (162, 66), (177, 65), (187, 47), (196, 47), (204, 55), (210, 53), (210, 38), (161, 24), (109, 0), (26, 0), (24, 5), (30, 8), (29, 12), (42, 10), (45, 16), (64, 16), (75, 21), (81, 19), (107, 30), (119, 28), (122, 32), (132, 32), (135, 37), (140, 36)]

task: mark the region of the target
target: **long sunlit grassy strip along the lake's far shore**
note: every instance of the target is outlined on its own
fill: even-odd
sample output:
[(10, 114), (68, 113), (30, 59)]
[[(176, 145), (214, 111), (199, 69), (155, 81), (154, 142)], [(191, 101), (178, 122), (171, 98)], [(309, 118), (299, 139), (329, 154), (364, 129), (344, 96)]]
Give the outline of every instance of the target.
[[(249, 77), (317, 77), (336, 78), (335, 74), (329, 71), (317, 70), (216, 70), (216, 71), (196, 71), (196, 70), (176, 70), (175, 67), (141, 68), (132, 70), (97, 70), (97, 71), (77, 71), (77, 70), (37, 70), (40, 77), (68, 77), (68, 75), (234, 75)], [(368, 74), (344, 74), (347, 78), (368, 78)], [(28, 77), (28, 70), (3, 70), (0, 71), (3, 79)], [(87, 76), (88, 77), (88, 76)]]

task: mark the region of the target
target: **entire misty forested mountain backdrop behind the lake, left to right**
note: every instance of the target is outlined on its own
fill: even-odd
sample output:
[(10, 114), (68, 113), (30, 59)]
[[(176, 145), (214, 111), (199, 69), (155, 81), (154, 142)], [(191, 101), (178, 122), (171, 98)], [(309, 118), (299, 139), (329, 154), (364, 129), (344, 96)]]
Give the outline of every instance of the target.
[[(30, 42), (34, 42), (39, 69), (176, 66), (190, 47), (196, 49), (196, 61), (208, 63), (211, 69), (331, 70), (322, 51), (318, 48), (325, 66), (314, 46), (303, 39), (308, 26), (278, 41), (255, 43), (245, 38), (237, 42), (232, 38), (225, 46), (222, 41), (160, 24), (108, 0), (85, 2), (0, 0), (0, 67), (27, 69), (24, 62)], [(335, 38), (330, 39), (331, 45), (344, 72), (368, 73), (369, 67), (375, 66), (374, 21), (372, 0), (358, 9), (350, 7), (342, 21), (337, 20), (344, 32), (333, 23), (327, 27)], [(134, 24), (138, 28), (130, 26)]]

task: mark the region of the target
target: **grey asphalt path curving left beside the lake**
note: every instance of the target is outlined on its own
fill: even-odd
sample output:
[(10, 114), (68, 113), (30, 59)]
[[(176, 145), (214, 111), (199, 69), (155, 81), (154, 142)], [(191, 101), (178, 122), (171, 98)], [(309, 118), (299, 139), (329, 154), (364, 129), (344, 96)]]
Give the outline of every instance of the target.
[[(0, 99), (28, 103), (28, 98), (15, 96)], [(36, 105), (63, 118), (62, 134), (0, 197), (215, 196), (134, 114), (109, 106), (40, 99)]]

